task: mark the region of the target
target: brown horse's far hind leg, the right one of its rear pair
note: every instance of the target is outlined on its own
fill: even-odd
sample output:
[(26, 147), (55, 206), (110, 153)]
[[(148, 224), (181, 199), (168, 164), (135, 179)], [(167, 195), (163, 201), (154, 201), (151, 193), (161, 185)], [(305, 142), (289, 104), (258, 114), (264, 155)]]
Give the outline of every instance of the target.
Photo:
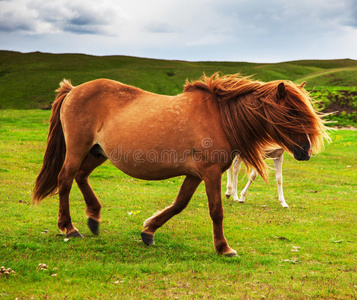
[(83, 160), (79, 171), (75, 176), (75, 180), (81, 190), (84, 201), (86, 203), (86, 216), (88, 217), (88, 227), (97, 235), (99, 233), (99, 223), (101, 221), (100, 211), (102, 205), (94, 194), (88, 182), (88, 177), (92, 171), (107, 160), (103, 155), (93, 155), (88, 153)]

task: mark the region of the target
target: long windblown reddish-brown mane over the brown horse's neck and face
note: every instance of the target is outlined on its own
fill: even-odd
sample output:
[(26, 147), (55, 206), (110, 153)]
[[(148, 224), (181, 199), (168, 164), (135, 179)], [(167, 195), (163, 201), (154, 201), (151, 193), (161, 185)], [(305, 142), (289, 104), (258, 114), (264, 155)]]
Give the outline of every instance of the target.
[[(279, 86), (281, 87), (279, 96)], [(329, 140), (326, 127), (312, 106), (303, 85), (290, 81), (261, 82), (239, 74), (211, 77), (203, 75), (195, 82), (186, 81), (184, 92), (203, 90), (219, 103), (221, 121), (234, 150), (246, 165), (255, 168), (267, 180), (264, 150), (278, 144), (291, 152), (293, 135), (308, 134), (314, 152)]]

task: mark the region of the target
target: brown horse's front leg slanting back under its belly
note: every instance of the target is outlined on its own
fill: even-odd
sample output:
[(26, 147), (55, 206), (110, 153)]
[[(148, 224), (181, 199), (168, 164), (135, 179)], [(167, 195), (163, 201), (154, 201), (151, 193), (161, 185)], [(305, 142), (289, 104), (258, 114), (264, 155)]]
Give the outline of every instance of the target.
[(156, 229), (164, 225), (169, 219), (180, 213), (187, 206), (201, 181), (202, 180), (198, 177), (187, 176), (182, 183), (175, 202), (144, 222), (144, 230), (141, 232), (141, 238), (146, 245), (153, 245)]

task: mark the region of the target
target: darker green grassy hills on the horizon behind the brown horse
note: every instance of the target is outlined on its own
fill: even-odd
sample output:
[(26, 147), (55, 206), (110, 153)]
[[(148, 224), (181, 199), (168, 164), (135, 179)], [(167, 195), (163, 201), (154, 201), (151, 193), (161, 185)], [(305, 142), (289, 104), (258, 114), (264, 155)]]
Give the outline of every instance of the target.
[(71, 79), (74, 85), (110, 78), (174, 95), (182, 91), (186, 78), (197, 79), (203, 72), (210, 75), (216, 71), (253, 75), (263, 81), (307, 81), (307, 88), (322, 101), (322, 109), (339, 111), (333, 118), (340, 125), (357, 126), (357, 61), (350, 59), (259, 64), (0, 51), (0, 109), (48, 108), (63, 78)]

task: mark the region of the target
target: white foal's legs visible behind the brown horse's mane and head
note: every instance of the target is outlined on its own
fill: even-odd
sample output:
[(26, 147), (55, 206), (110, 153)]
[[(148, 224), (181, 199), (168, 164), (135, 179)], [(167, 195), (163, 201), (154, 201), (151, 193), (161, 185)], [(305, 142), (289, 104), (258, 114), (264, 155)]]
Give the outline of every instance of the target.
[[(283, 193), (283, 154), (284, 150), (283, 149), (274, 149), (271, 151), (267, 151), (265, 153), (266, 158), (271, 158), (274, 161), (274, 167), (275, 167), (275, 176), (276, 176), (276, 182), (278, 185), (278, 194), (279, 194), (279, 202), (280, 204), (288, 208), (289, 206), (286, 204), (285, 199), (284, 199), (284, 193)], [(236, 159), (234, 160), (232, 166), (227, 170), (227, 191), (226, 191), (226, 197), (229, 199), (231, 195), (233, 195), (233, 201), (238, 201), (240, 203), (244, 203), (245, 197), (247, 196), (248, 189), (250, 185), (253, 183), (253, 181), (257, 178), (258, 173), (256, 170), (253, 169), (253, 171), (250, 173), (248, 183), (240, 193), (240, 199), (238, 198), (237, 195), (237, 181), (238, 181), (238, 172), (240, 170), (240, 166), (242, 163), (242, 159), (237, 156)], [(231, 180), (231, 173), (233, 170), (233, 181)]]

